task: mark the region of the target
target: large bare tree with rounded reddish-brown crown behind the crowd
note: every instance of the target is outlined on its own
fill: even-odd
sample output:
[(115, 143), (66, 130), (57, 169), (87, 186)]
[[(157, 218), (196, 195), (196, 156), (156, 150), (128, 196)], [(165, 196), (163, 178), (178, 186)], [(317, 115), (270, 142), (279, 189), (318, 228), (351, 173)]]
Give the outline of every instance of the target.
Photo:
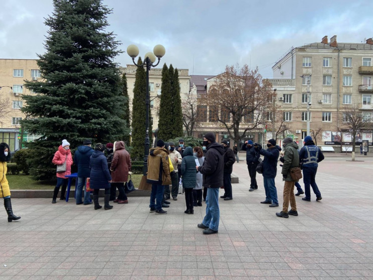
[[(263, 128), (271, 87), (258, 69), (251, 70), (246, 64), (227, 65), (225, 72), (215, 77), (203, 102), (209, 105), (210, 113), (215, 108), (213, 114), (217, 121), (238, 143), (246, 132)], [(243, 132), (240, 132), (241, 124)]]

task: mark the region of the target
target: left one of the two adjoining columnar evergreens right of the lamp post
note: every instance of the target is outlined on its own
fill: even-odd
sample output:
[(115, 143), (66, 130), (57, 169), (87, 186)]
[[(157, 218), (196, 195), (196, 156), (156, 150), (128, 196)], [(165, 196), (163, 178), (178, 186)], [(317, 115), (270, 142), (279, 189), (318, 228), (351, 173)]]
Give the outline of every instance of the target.
[[(171, 66), (170, 66), (171, 68)], [(159, 101), (159, 121), (158, 121), (158, 139), (167, 139), (172, 137), (172, 95), (171, 95), (171, 77), (170, 69), (164, 64), (162, 68), (162, 85)], [(173, 68), (172, 68), (173, 73)]]

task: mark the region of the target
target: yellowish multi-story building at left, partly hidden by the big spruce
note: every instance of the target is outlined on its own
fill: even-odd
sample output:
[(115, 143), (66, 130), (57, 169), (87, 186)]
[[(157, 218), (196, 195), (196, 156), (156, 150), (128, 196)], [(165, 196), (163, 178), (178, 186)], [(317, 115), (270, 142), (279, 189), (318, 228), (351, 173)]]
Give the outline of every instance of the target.
[[(24, 80), (40, 79), (40, 71), (35, 59), (0, 59), (0, 141), (9, 144), (11, 151), (20, 147), (20, 120), (25, 115), (21, 112), (25, 105), (23, 94), (33, 94), (26, 89)], [(24, 141), (38, 137), (24, 133)]]

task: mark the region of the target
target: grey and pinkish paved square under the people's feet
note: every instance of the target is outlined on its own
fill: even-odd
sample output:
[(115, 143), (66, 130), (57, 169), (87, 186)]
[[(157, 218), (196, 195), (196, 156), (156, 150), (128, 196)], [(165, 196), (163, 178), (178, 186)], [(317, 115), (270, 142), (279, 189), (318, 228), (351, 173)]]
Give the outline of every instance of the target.
[[(0, 212), (0, 280), (373, 279), (373, 158), (346, 160), (326, 157), (316, 176), (323, 199), (296, 197), (299, 216), (288, 219), (259, 203), (262, 177), (249, 192), (245, 161), (235, 164), (240, 183), (233, 200), (220, 200), (214, 235), (197, 228), (205, 203), (184, 214), (183, 195), (167, 215), (149, 213), (148, 197), (107, 211), (74, 199), (13, 199), (22, 219), (8, 223)], [(280, 174), (276, 186), (282, 204)]]

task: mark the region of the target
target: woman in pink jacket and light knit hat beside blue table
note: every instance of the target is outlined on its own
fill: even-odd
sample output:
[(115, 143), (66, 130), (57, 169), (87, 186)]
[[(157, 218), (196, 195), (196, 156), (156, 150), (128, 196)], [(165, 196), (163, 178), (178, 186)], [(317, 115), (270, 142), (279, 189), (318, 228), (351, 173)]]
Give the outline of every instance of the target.
[(65, 200), (65, 192), (67, 187), (68, 179), (65, 178), (65, 175), (71, 174), (71, 165), (73, 164), (73, 158), (71, 157), (70, 143), (66, 139), (62, 140), (62, 145), (58, 147), (57, 152), (55, 153), (52, 163), (55, 165), (62, 165), (66, 161), (66, 171), (63, 173), (57, 173), (57, 185), (53, 192), (52, 203), (56, 203), (58, 191), (62, 185), (60, 200)]

